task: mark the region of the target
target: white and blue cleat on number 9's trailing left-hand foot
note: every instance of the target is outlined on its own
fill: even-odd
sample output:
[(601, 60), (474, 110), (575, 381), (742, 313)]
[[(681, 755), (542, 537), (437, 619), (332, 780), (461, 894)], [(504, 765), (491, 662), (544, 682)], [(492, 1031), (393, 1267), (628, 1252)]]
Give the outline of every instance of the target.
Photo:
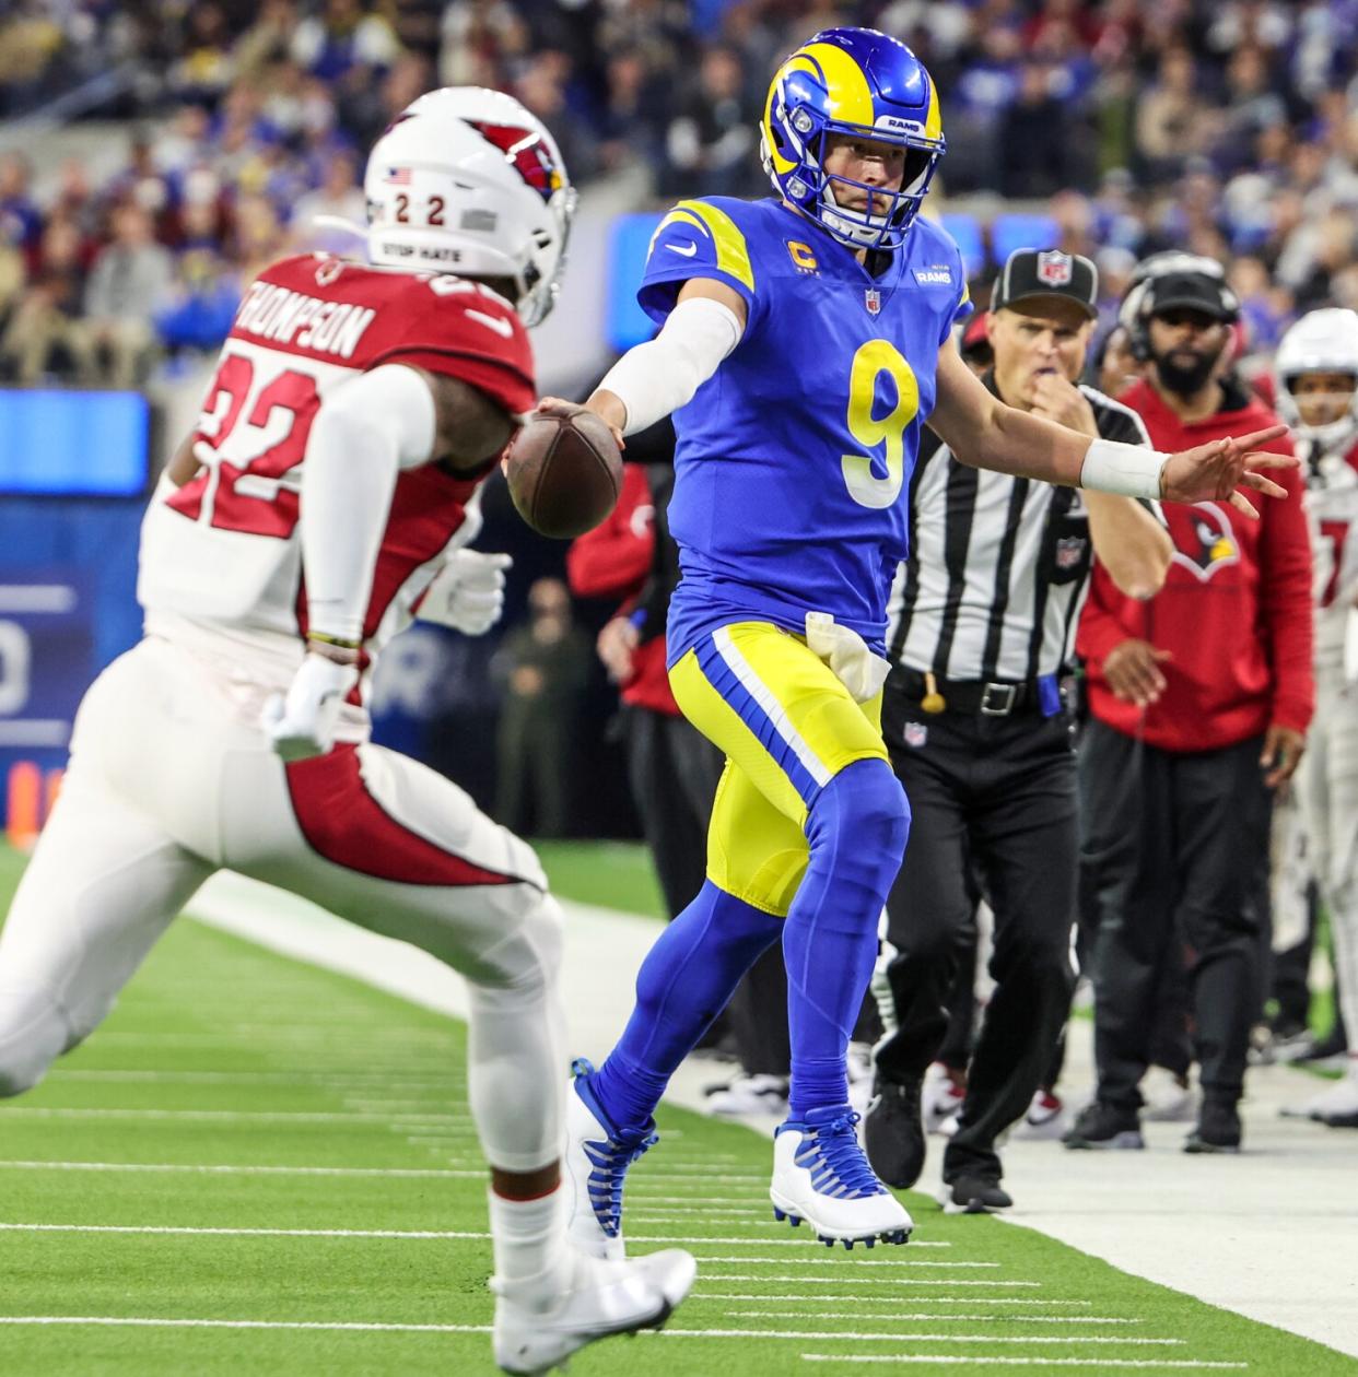
[(570, 1241), (587, 1257), (618, 1263), (623, 1241), (623, 1186), (627, 1169), (660, 1142), (656, 1121), (620, 1129), (589, 1084), (594, 1067), (581, 1058), (572, 1066), (574, 1084), (566, 1102), (566, 1183), (570, 1188)]

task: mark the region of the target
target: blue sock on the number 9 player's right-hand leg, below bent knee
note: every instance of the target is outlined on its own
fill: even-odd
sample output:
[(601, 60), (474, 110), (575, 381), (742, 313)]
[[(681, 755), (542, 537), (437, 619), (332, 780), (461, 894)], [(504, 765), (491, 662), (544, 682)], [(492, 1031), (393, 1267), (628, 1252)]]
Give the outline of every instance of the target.
[(910, 808), (884, 760), (855, 760), (815, 796), (811, 859), (782, 932), (792, 1034), (789, 1118), (848, 1102), (844, 1056), (877, 957)]

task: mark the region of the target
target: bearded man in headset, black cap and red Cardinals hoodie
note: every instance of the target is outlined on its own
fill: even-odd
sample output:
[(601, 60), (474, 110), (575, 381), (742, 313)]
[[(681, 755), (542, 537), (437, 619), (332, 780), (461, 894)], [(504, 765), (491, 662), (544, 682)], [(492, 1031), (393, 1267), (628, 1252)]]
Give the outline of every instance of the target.
[[(1277, 417), (1230, 373), (1235, 293), (1209, 259), (1151, 260), (1122, 319), (1143, 381), (1124, 394), (1157, 448), (1208, 443)], [(1267, 449), (1291, 453), (1286, 439)], [(1080, 627), (1091, 722), (1085, 861), (1099, 909), (1094, 961), (1098, 1097), (1067, 1147), (1140, 1147), (1140, 1080), (1157, 993), (1189, 949), (1202, 1110), (1190, 1153), (1240, 1148), (1257, 1008), (1257, 863), (1271, 789), (1296, 770), (1311, 719), (1311, 544), (1303, 481), (1259, 521), (1226, 503), (1167, 511), (1164, 592), (1135, 603), (1095, 573)]]

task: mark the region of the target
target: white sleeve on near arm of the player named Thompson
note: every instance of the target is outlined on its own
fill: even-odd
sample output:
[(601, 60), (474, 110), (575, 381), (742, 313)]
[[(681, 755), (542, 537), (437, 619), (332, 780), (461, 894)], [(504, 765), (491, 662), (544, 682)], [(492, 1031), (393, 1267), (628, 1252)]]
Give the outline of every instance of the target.
[(404, 468), (434, 449), (434, 397), (399, 365), (331, 392), (302, 470), (302, 567), (310, 629), (361, 640), (391, 494)]

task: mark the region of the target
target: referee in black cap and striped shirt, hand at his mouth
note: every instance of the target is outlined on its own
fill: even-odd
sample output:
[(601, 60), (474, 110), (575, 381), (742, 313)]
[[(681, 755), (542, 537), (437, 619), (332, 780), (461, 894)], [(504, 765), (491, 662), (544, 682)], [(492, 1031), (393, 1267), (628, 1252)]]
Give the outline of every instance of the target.
[[(1134, 412), (1077, 387), (1094, 330), (1094, 264), (1019, 249), (996, 282), (986, 386), (1073, 430), (1147, 445)], [(963, 456), (965, 459), (965, 456)], [(1027, 1108), (1069, 1012), (1076, 766), (1062, 679), (1098, 552), (1129, 596), (1164, 582), (1157, 516), (1114, 497), (981, 471), (926, 431), (910, 481), (910, 558), (897, 578), (883, 731), (910, 799), (910, 843), (887, 901), (868, 1157), (891, 1186), (924, 1166), (920, 1088), (981, 883), (994, 910), (996, 989), (943, 1157), (943, 1208), (1012, 1203), (999, 1135)]]

